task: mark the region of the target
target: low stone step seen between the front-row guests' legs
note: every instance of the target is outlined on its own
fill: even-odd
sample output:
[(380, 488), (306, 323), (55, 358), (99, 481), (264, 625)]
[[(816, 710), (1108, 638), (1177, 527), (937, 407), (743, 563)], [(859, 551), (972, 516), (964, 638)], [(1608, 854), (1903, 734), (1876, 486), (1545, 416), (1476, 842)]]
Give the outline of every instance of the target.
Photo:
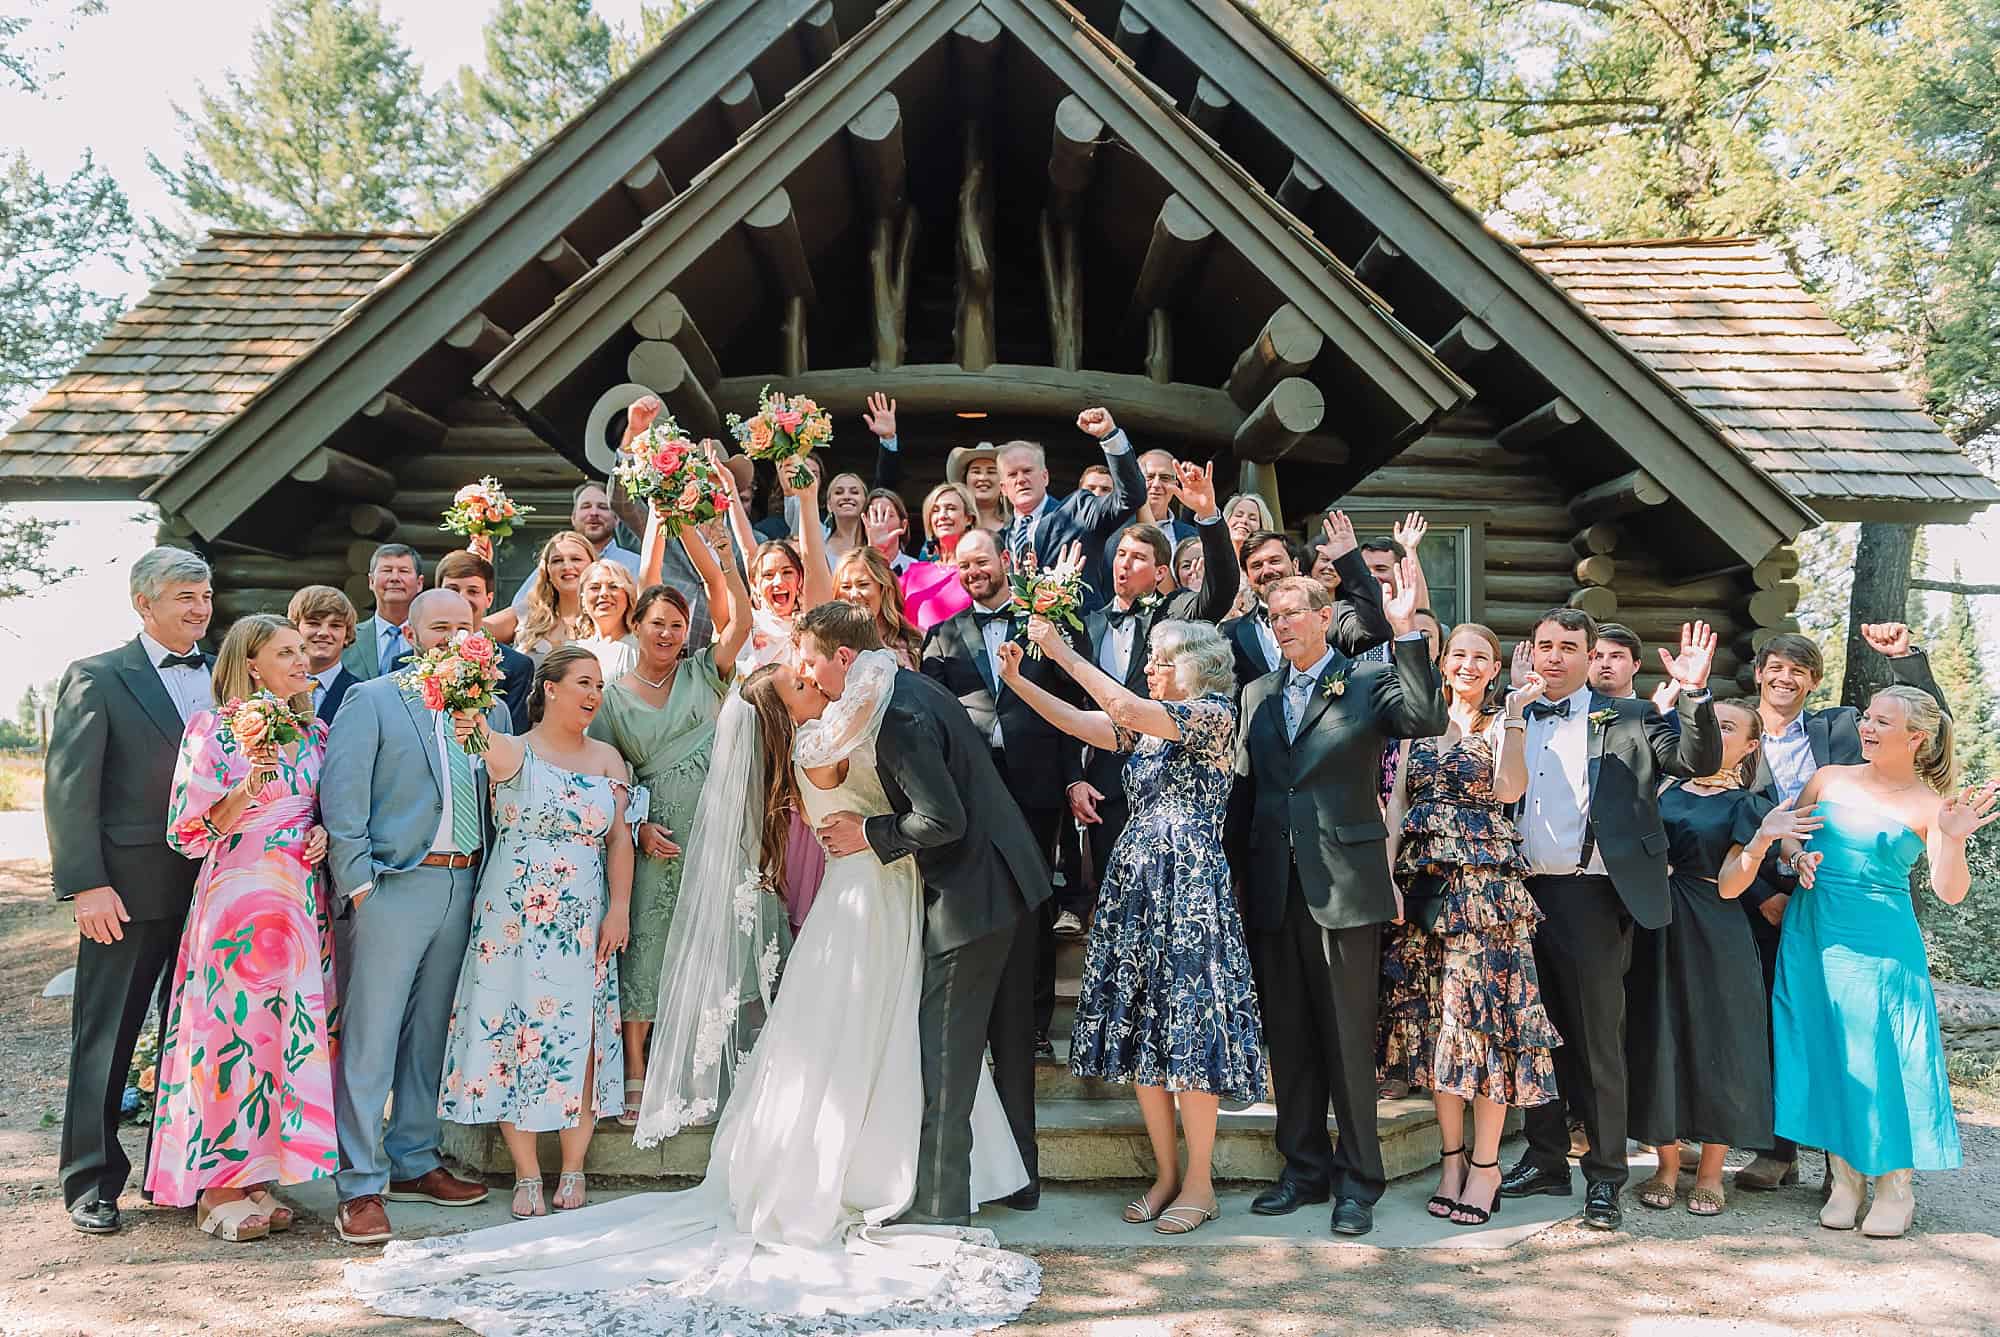
[[(1082, 1081), (1082, 1079), (1074, 1079)], [(1036, 1141), (1042, 1155), (1042, 1177), (1050, 1181), (1078, 1179), (1150, 1179), (1152, 1149), (1138, 1105), (1130, 1099), (1070, 1097), (1036, 1099)], [(1430, 1101), (1382, 1101), (1376, 1107), (1382, 1135), (1382, 1163), (1390, 1179), (1414, 1175), (1438, 1163), (1438, 1121)], [(1278, 1177), (1280, 1159), (1272, 1147), (1276, 1109), (1252, 1105), (1224, 1111), (1216, 1127), (1216, 1179), (1270, 1181)], [(1328, 1119), (1332, 1129), (1332, 1119)], [(632, 1131), (616, 1121), (598, 1125), (590, 1139), (584, 1169), (592, 1175), (630, 1175), (640, 1179), (690, 1177), (708, 1171), (708, 1149), (714, 1129), (688, 1129), (658, 1147), (640, 1149)], [(486, 1175), (510, 1173), (506, 1145), (496, 1127), (444, 1125), (444, 1151), (470, 1171)], [(556, 1163), (560, 1149), (554, 1133), (542, 1135), (544, 1163)]]

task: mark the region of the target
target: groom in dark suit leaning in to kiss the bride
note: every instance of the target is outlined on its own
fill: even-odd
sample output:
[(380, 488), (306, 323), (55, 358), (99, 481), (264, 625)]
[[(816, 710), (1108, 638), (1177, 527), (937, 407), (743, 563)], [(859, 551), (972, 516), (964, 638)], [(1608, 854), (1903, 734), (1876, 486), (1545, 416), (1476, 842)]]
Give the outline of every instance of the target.
[[(830, 602), (798, 618), (798, 671), (828, 701), (848, 668), (880, 650), (870, 612)], [(992, 751), (950, 691), (900, 671), (876, 739), (876, 769), (890, 813), (834, 813), (820, 825), (830, 855), (872, 849), (888, 865), (904, 855), (924, 875), (924, 993), (918, 1037), (924, 1061), (924, 1131), (916, 1197), (904, 1223), (972, 1219), (972, 1099), (982, 1049), (992, 1047), (994, 1087), (1028, 1167), (1028, 1187), (1006, 1205), (1040, 1201), (1034, 1147), (1034, 911), (1048, 901), (1048, 865)]]

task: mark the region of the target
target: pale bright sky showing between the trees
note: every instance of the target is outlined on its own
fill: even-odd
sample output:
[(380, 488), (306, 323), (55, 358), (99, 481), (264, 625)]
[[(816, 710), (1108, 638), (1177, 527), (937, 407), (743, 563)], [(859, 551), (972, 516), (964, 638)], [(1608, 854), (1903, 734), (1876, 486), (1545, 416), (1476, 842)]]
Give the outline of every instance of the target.
[[(480, 24), (496, 8), (490, 0), (380, 0), (380, 6), (424, 64), (430, 86), (456, 76), (462, 64), (480, 64)], [(174, 106), (192, 106), (200, 84), (218, 86), (226, 70), (246, 66), (250, 32), (268, 12), (268, 0), (108, 0), (102, 16), (74, 26), (62, 18), (64, 0), (10, 8), (38, 18), (30, 42), (60, 42), (42, 66), (60, 78), (44, 98), (0, 94), (0, 146), (24, 148), (50, 174), (68, 172), (90, 150), (124, 186), (134, 216), (172, 216), (172, 200), (146, 168), (146, 154), (180, 158)], [(614, 26), (638, 26), (638, 0), (598, 0), (596, 8)], [(130, 274), (106, 266), (90, 280), (128, 298), (144, 292), (136, 264)], [(84, 570), (56, 590), (0, 604), (0, 715), (10, 715), (26, 687), (56, 679), (72, 658), (132, 634), (126, 572), (152, 544), (152, 520), (136, 518), (146, 510), (142, 502), (20, 510), (72, 520), (52, 556)], [(1968, 580), (1994, 576), (2000, 516), (1976, 526), (1934, 526), (1928, 538), (1936, 574), (1948, 576), (1958, 562)], [(1988, 664), (2000, 668), (2000, 598), (1982, 602)]]

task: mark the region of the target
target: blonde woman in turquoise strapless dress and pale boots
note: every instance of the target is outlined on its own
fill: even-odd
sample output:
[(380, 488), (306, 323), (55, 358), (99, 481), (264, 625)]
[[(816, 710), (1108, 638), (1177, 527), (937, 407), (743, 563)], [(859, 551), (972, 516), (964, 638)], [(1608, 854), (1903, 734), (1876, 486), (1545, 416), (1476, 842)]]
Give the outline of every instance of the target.
[(1932, 891), (1956, 905), (1966, 839), (2000, 811), (1994, 785), (1952, 795), (1952, 725), (1926, 693), (1876, 693), (1860, 735), (1862, 765), (1822, 767), (1798, 797), (1820, 829), (1788, 843), (1800, 889), (1772, 993), (1776, 1129), (1826, 1149), (1820, 1225), (1854, 1229), (1874, 1177), (1862, 1231), (1894, 1237), (1916, 1211), (1910, 1171), (1960, 1163), (1910, 869), (1928, 851)]

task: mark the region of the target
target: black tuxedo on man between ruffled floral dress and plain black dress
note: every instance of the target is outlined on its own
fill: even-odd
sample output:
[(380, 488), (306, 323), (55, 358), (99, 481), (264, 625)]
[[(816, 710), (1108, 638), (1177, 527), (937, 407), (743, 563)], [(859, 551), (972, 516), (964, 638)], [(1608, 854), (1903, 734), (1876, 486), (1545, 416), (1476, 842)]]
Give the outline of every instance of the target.
[[(1584, 839), (1602, 857), (1604, 875), (1564, 871), (1528, 879), (1542, 909), (1534, 967), (1542, 1005), (1562, 1035), (1556, 1079), (1564, 1091), (1562, 1101), (1526, 1113), (1528, 1161), (1568, 1175), (1568, 1107), (1590, 1133), (1584, 1177), (1592, 1183), (1626, 1181), (1624, 977), (1632, 967), (1632, 925), (1662, 929), (1674, 915), (1660, 787), (1668, 777), (1714, 775), (1722, 765), (1712, 697), (1690, 701), (1682, 693), (1674, 711), (1678, 729), (1650, 701), (1588, 695)], [(1544, 759), (1530, 749), (1526, 761), (1532, 785)], [(1588, 863), (1584, 849), (1578, 863)]]

